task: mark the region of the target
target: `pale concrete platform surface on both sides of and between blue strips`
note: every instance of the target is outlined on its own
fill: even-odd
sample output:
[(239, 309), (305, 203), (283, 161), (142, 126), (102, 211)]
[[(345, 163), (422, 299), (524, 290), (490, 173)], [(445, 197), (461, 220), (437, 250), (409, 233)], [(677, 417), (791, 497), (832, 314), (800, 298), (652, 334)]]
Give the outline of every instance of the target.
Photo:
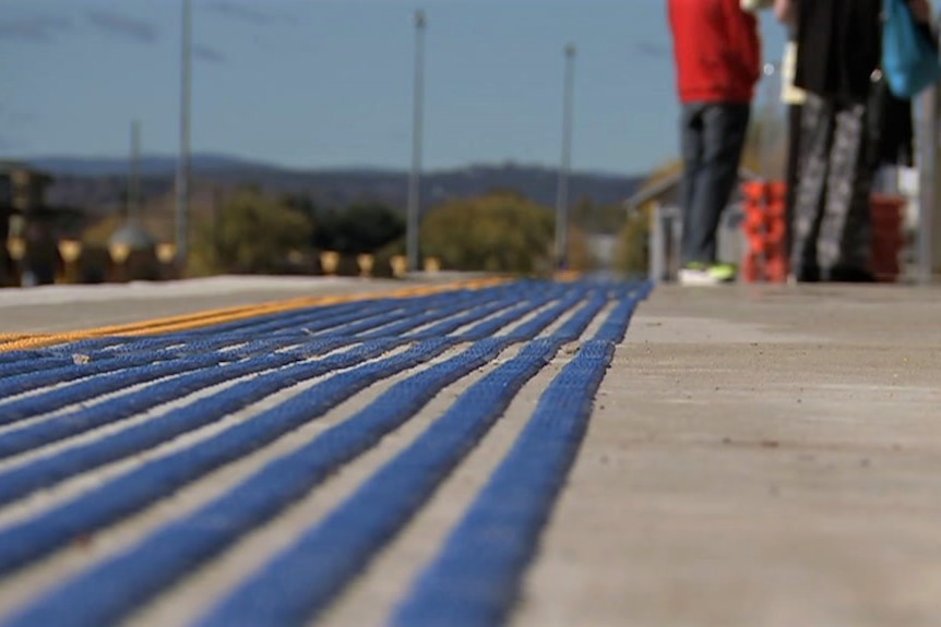
[[(62, 331), (315, 294), (382, 293), (408, 284), (417, 281), (222, 277), (4, 290), (0, 333)], [(495, 433), (322, 624), (374, 625), (388, 616), (555, 372), (524, 388)], [(441, 396), (458, 391), (449, 388)], [(368, 400), (360, 396), (340, 413)], [(284, 545), (291, 530), (348, 494), (441, 407), (432, 402), (402, 433), (324, 485), (317, 499), (294, 508), (133, 623), (172, 625), (198, 613), (214, 591), (258, 563), (259, 547)], [(514, 624), (941, 625), (939, 407), (937, 289), (658, 287), (634, 316), (601, 384), (588, 436), (528, 572)], [(211, 490), (245, 472), (218, 473)], [(135, 524), (152, 528), (175, 506), (191, 507), (193, 498), (182, 494), (135, 518), (95, 550), (118, 550)], [(82, 564), (81, 556), (61, 556), (0, 586), (0, 611)]]

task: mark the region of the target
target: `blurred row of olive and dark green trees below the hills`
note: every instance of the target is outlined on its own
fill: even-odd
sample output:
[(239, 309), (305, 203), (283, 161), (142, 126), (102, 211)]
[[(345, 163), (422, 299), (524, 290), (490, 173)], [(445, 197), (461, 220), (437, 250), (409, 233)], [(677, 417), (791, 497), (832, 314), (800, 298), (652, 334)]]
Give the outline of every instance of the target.
[[(615, 234), (624, 226), (620, 205), (575, 203), (569, 216), (569, 267), (597, 268), (588, 234)], [(448, 270), (545, 274), (555, 269), (555, 209), (511, 190), (495, 190), (425, 212), (420, 254)], [(324, 207), (308, 196), (272, 196), (246, 185), (195, 225), (189, 266), (198, 275), (318, 274), (323, 270), (320, 253), (331, 251), (341, 258), (340, 274), (356, 274), (355, 260), (370, 255), (372, 274), (389, 275), (391, 260), (406, 253), (405, 238), (405, 216), (382, 203)]]

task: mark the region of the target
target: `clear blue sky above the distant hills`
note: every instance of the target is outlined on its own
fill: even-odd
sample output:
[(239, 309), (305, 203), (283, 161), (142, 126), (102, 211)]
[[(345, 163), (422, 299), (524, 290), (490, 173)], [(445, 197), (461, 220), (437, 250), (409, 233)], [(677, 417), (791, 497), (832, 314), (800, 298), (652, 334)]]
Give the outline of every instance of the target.
[[(414, 12), (428, 16), (424, 165), (555, 166), (577, 47), (572, 165), (676, 154), (664, 0), (194, 0), (194, 152), (297, 168), (410, 164)], [(766, 56), (783, 33), (763, 19)], [(0, 0), (0, 156), (175, 154), (179, 0)]]

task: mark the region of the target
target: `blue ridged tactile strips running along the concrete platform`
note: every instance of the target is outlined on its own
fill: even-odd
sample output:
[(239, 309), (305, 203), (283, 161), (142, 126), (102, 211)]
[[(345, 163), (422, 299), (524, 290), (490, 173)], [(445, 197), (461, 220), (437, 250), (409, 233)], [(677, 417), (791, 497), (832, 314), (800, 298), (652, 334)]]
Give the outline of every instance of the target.
[[(64, 480), (94, 474), (235, 412), (251, 411), (253, 403), (291, 386), (296, 394), (0, 528), (0, 586), (368, 386), (393, 375), (401, 381), (192, 513), (14, 608), (3, 624), (100, 626), (131, 616), (370, 449), (444, 386), (516, 349), (468, 384), (450, 409), (347, 501), (311, 521), (296, 545), (247, 572), (200, 619), (202, 625), (306, 624), (407, 524), (523, 385), (563, 345), (577, 341), (576, 357), (548, 386), (515, 447), (390, 616), (397, 625), (499, 624), (513, 606), (577, 453), (614, 347), (650, 289), (643, 282), (517, 281), (321, 306), (157, 337), (32, 349), (22, 351), (22, 370), (12, 359), (16, 353), (8, 353), (0, 362), (9, 375), (0, 379), (0, 460), (29, 457), (0, 469), (0, 506), (17, 506), (37, 491), (55, 490)], [(584, 339), (593, 324), (596, 330)], [(201, 390), (199, 399), (180, 400)], [(141, 420), (145, 412), (151, 413)], [(95, 437), (103, 426), (112, 431)], [(83, 439), (72, 443), (76, 436)], [(41, 455), (49, 445), (65, 447)]]

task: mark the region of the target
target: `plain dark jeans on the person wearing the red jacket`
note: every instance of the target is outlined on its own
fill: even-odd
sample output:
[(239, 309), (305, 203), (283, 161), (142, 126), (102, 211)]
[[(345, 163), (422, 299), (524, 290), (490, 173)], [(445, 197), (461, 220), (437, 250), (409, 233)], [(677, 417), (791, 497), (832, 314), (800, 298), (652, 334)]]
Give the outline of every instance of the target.
[(748, 103), (684, 105), (680, 125), (683, 178), (682, 263), (716, 261), (722, 214), (738, 182), (738, 166), (748, 132)]

